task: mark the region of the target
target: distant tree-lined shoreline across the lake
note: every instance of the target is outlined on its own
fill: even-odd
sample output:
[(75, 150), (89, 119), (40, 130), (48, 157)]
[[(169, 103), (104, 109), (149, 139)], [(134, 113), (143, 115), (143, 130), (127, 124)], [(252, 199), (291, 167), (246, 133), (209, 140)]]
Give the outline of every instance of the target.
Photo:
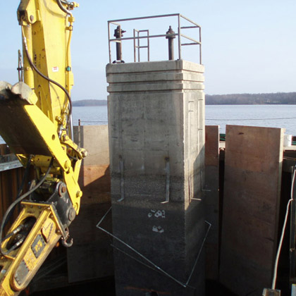
[[(73, 106), (107, 106), (106, 99), (72, 101)], [(296, 105), (296, 92), (271, 94), (206, 94), (206, 105)]]

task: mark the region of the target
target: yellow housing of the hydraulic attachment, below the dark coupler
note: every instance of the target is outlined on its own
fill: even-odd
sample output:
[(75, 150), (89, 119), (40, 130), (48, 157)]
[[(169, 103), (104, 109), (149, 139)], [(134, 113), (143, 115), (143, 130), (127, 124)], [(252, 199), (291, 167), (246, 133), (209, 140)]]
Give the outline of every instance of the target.
[[(61, 238), (63, 228), (51, 204), (23, 202), (23, 211), (9, 233), (20, 228), (4, 242), (8, 252), (18, 242), (23, 245), (0, 258), (0, 295), (18, 295), (30, 283), (51, 249)], [(26, 238), (25, 232), (30, 231)], [(22, 233), (23, 232), (23, 233)], [(6, 237), (9, 236), (6, 235)]]

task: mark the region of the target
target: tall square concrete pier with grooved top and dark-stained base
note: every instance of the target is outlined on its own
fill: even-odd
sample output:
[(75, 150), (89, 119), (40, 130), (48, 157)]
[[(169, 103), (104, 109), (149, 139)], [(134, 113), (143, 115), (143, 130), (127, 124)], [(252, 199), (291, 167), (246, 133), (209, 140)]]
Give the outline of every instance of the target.
[(106, 66), (117, 295), (204, 295), (203, 72)]

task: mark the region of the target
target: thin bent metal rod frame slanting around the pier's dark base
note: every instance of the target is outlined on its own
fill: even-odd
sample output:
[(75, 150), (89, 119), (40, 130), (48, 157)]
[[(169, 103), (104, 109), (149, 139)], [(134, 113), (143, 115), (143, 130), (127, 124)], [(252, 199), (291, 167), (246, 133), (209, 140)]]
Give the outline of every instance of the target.
[[(143, 264), (144, 266), (147, 266), (149, 269), (153, 269), (154, 271), (157, 271), (161, 274), (163, 274), (164, 276), (171, 278), (172, 280), (175, 281), (175, 283), (178, 283), (179, 285), (183, 286), (184, 288), (192, 288), (195, 289), (194, 287), (188, 285), (193, 272), (195, 271), (195, 267), (197, 266), (197, 261), (200, 257), (200, 254), (202, 253), (202, 249), (204, 247), (204, 242), (206, 241), (206, 237), (209, 234), (209, 230), (211, 228), (211, 223), (209, 223), (208, 221), (204, 221), (205, 223), (207, 223), (209, 225), (209, 228), (206, 230), (206, 234), (204, 235), (204, 240), (202, 241), (202, 245), (199, 249), (199, 252), (197, 254), (197, 259), (195, 259), (195, 264), (192, 267), (192, 271), (190, 273), (190, 276), (188, 277), (186, 283), (183, 283), (181, 280), (178, 280), (177, 278), (174, 278), (173, 276), (171, 276), (169, 273), (167, 273), (166, 271), (164, 271), (164, 269), (161, 269), (161, 267), (159, 267), (158, 265), (156, 265), (153, 261), (151, 261), (150, 259), (148, 259), (147, 257), (144, 257), (143, 254), (141, 254), (140, 252), (138, 252), (135, 248), (133, 248), (132, 246), (128, 245), (126, 242), (123, 242), (123, 240), (121, 240), (120, 238), (117, 238), (116, 235), (113, 235), (112, 233), (110, 233), (108, 230), (101, 228), (101, 223), (104, 221), (104, 219), (106, 218), (106, 216), (109, 214), (109, 212), (111, 211), (112, 206), (109, 208), (108, 211), (106, 211), (106, 214), (104, 214), (103, 218), (101, 218), (101, 220), (99, 221), (99, 223), (97, 223), (97, 228), (99, 228), (100, 230), (104, 231), (104, 233), (107, 233), (108, 235), (110, 235), (113, 239), (118, 240), (118, 242), (121, 242), (123, 245), (125, 245), (125, 247), (128, 247), (128, 249), (130, 249), (132, 252), (134, 252), (135, 254), (139, 255), (142, 259), (144, 259), (144, 261), (147, 261), (147, 264), (145, 264), (144, 262), (136, 259), (135, 257), (132, 257), (130, 254), (124, 252), (123, 250), (119, 249), (118, 247), (115, 247), (116, 249), (118, 249), (118, 251), (122, 252), (123, 254), (126, 254), (128, 257), (130, 257), (131, 259), (134, 259), (135, 261)], [(112, 247), (114, 247), (113, 245), (111, 245)], [(148, 264), (150, 264), (151, 266), (149, 266)]]

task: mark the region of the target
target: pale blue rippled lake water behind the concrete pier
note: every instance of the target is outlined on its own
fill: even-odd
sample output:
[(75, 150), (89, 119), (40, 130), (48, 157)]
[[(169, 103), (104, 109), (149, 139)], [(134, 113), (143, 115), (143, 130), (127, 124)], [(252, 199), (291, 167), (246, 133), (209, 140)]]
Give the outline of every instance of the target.
[[(102, 125), (108, 123), (107, 106), (73, 107), (73, 125)], [(296, 105), (208, 105), (206, 125), (252, 125), (285, 128), (288, 135), (296, 135)], [(0, 143), (4, 141), (0, 138)]]

